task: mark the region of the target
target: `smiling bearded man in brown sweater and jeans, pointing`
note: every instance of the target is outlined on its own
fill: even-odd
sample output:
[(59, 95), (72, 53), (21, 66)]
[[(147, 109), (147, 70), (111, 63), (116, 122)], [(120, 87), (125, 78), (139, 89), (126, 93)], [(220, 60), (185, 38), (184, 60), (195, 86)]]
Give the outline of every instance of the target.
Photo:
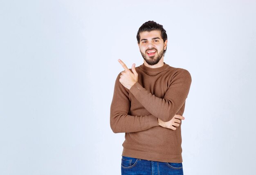
[(110, 108), (113, 132), (125, 132), (122, 175), (183, 175), (181, 120), (189, 94), (187, 70), (164, 63), (167, 34), (162, 25), (145, 22), (137, 32), (144, 58), (124, 68), (116, 79)]

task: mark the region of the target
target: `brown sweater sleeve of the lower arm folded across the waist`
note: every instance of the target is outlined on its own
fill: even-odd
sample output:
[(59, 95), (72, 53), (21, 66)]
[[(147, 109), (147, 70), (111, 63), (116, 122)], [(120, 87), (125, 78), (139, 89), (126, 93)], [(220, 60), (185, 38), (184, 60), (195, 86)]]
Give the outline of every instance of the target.
[(113, 132), (138, 132), (158, 126), (153, 115), (132, 116), (130, 110), (129, 90), (120, 82), (120, 74), (115, 82), (114, 95), (110, 107), (110, 127)]

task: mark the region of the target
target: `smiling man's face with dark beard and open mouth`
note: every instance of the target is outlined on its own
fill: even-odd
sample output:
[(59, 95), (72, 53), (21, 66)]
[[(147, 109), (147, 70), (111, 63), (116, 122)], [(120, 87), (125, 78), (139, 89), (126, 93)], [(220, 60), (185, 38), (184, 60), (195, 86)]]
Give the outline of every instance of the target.
[(139, 33), (139, 50), (142, 57), (148, 65), (157, 64), (164, 56), (164, 50), (167, 46), (167, 40), (161, 37), (161, 31), (143, 31)]

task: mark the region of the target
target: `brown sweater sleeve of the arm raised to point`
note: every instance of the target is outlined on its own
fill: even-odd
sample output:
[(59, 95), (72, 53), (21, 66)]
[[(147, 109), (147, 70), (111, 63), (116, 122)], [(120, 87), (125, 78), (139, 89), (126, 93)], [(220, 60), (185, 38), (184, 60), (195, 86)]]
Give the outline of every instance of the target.
[(190, 73), (178, 69), (171, 77), (171, 84), (163, 99), (151, 94), (138, 82), (130, 88), (130, 92), (150, 114), (166, 122), (170, 121), (185, 103), (190, 85)]

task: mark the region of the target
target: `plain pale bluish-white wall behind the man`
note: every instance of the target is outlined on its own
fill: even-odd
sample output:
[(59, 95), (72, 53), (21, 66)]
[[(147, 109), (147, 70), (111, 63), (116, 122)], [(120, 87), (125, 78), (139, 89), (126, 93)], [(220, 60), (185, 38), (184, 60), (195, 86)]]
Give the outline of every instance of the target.
[(0, 174), (118, 175), (124, 133), (110, 129), (121, 58), (143, 58), (148, 20), (168, 34), (165, 62), (189, 70), (185, 175), (253, 174), (255, 0), (0, 2)]

